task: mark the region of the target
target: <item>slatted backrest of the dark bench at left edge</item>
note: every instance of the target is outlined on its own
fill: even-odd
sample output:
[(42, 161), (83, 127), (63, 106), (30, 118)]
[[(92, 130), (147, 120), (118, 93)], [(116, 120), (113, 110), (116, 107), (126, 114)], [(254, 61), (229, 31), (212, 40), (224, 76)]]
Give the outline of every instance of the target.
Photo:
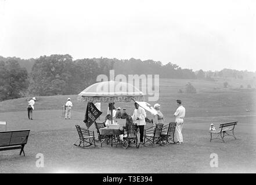
[(0, 132), (0, 147), (27, 144), (30, 130)]

